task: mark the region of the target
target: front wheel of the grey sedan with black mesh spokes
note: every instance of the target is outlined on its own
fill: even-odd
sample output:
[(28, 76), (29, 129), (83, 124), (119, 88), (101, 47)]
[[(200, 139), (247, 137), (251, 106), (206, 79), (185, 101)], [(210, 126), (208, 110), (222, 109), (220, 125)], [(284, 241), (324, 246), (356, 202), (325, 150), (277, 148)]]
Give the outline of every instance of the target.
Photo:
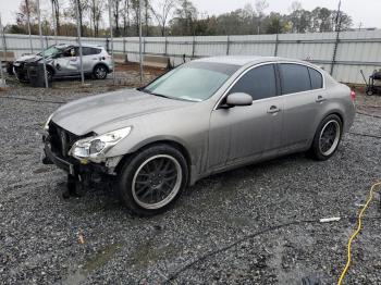
[(187, 181), (187, 163), (181, 151), (156, 145), (125, 161), (118, 177), (118, 190), (134, 214), (149, 216), (170, 209)]

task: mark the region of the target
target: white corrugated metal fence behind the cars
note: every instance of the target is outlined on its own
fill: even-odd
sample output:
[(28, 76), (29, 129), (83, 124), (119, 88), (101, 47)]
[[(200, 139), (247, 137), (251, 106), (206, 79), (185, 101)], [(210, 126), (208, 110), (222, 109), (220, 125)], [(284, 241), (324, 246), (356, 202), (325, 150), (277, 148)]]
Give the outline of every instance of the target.
[[(26, 35), (5, 34), (5, 50), (16, 57), (30, 53)], [(40, 49), (38, 36), (32, 36), (33, 52)], [(59, 44), (74, 44), (75, 37), (58, 37)], [(110, 47), (107, 38), (83, 38), (83, 42)], [(46, 46), (56, 44), (45, 37)], [(114, 38), (114, 52), (138, 62), (138, 38)], [(381, 69), (381, 29), (361, 32), (281, 34), (249, 36), (146, 37), (145, 54), (167, 55), (173, 65), (194, 58), (211, 55), (276, 55), (310, 61), (322, 66), (340, 82), (364, 83), (360, 70), (370, 75)]]

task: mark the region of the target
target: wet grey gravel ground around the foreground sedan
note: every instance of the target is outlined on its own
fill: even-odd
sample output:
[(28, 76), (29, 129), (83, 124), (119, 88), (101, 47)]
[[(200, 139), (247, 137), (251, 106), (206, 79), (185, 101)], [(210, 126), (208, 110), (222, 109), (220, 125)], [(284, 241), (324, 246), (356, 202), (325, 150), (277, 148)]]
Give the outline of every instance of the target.
[[(380, 139), (347, 134), (327, 162), (302, 153), (214, 175), (189, 188), (172, 211), (137, 219), (108, 189), (64, 200), (65, 174), (40, 163), (39, 132), (59, 104), (3, 98), (66, 101), (114, 88), (57, 87), (12, 85), (0, 92), (2, 284), (337, 281), (355, 220), (297, 221), (356, 215), (381, 178)], [(367, 100), (358, 101), (367, 112)], [(381, 97), (371, 104), (369, 112), (380, 116), (374, 106)], [(352, 132), (381, 136), (381, 119), (358, 114)], [(346, 284), (381, 283), (377, 200), (354, 243)], [(290, 222), (295, 223), (278, 227)]]

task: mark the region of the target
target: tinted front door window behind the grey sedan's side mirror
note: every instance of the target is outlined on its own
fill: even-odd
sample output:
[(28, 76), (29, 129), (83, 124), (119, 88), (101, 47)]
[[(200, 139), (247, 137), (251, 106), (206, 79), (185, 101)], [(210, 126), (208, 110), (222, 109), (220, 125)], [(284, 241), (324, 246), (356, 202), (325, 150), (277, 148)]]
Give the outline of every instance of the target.
[(276, 96), (274, 65), (262, 65), (248, 71), (230, 90), (230, 94), (234, 92), (248, 94), (253, 100)]

